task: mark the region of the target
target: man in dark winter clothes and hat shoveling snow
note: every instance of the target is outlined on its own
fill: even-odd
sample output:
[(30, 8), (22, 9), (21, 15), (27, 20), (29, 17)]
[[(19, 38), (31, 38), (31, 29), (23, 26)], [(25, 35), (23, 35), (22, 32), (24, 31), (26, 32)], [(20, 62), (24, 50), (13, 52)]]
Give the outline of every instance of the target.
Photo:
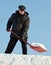
[[(18, 10), (12, 14), (9, 18), (6, 30), (9, 32), (9, 29), (12, 28), (12, 31), (19, 35), (22, 39), (27, 42), (27, 31), (29, 28), (29, 14), (25, 11), (26, 7), (24, 5), (19, 5)], [(8, 43), (5, 53), (11, 53), (16, 45), (16, 42), (19, 40), (14, 34), (11, 33), (10, 41)], [(21, 40), (20, 40), (21, 41)], [(27, 44), (21, 41), (22, 53), (27, 54)]]

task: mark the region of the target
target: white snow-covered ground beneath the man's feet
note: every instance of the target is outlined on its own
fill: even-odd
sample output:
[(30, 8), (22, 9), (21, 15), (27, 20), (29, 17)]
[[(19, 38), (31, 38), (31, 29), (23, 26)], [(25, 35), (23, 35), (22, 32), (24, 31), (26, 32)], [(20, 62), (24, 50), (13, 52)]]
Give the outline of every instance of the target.
[(0, 65), (51, 65), (50, 56), (0, 54)]

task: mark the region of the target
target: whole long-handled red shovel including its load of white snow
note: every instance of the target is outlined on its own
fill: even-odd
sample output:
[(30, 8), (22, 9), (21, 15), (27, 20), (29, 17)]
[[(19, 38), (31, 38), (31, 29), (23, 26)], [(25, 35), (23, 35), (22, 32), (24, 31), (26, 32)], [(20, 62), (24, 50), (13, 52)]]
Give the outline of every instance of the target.
[(24, 39), (22, 39), (19, 35), (15, 34), (15, 32), (13, 32), (12, 30), (9, 30), (12, 34), (14, 34), (17, 38), (19, 38), (21, 41), (23, 41), (25, 44), (28, 44), (30, 46), (31, 49), (37, 51), (37, 52), (47, 52), (47, 49), (45, 48), (45, 46), (43, 44), (37, 43), (37, 44), (29, 44), (28, 42), (26, 42)]

